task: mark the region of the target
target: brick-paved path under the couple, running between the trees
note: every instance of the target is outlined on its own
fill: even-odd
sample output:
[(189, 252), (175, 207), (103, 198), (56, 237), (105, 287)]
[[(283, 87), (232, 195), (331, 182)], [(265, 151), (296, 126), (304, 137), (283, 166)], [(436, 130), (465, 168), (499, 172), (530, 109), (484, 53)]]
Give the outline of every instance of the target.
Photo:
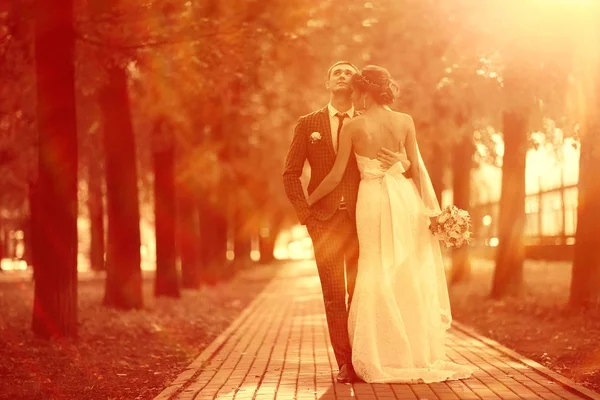
[(449, 358), (480, 370), (429, 385), (336, 383), (316, 268), (290, 263), (155, 400), (600, 399), (460, 325), (448, 346)]

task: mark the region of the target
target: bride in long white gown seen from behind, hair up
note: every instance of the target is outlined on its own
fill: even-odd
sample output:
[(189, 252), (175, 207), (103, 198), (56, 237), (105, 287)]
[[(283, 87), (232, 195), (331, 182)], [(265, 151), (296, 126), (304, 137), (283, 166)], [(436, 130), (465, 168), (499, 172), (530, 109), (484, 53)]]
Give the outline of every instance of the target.
[[(467, 378), (468, 366), (446, 359), (452, 317), (439, 242), (429, 231), (440, 213), (407, 114), (391, 111), (396, 86), (382, 67), (352, 78), (353, 100), (365, 111), (343, 125), (335, 164), (308, 197), (312, 205), (333, 190), (354, 151), (361, 172), (356, 205), (358, 277), (348, 317), (352, 366), (369, 383), (439, 382)], [(387, 171), (380, 148), (405, 153)]]

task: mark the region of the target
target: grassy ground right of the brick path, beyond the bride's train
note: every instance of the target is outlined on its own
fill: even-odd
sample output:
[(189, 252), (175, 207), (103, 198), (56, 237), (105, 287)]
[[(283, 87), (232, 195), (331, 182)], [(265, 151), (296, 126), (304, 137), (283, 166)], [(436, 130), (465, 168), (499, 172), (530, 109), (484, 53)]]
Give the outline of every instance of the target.
[(600, 392), (600, 309), (567, 307), (571, 264), (528, 260), (525, 293), (489, 298), (494, 263), (473, 260), (468, 282), (451, 288), (454, 318), (504, 346)]

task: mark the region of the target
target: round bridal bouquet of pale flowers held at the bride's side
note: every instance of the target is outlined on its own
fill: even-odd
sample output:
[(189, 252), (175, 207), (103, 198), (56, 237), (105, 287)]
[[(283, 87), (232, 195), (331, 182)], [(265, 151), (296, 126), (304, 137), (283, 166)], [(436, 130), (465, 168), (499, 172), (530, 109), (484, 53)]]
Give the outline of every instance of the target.
[(446, 247), (461, 247), (471, 243), (471, 216), (466, 210), (456, 206), (447, 206), (429, 226)]

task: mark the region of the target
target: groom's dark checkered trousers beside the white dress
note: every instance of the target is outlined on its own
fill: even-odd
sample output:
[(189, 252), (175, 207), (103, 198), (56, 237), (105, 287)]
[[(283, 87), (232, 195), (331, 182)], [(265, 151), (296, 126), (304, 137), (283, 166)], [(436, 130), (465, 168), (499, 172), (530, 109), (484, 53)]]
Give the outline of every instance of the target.
[[(348, 310), (358, 270), (356, 224), (346, 210), (337, 210), (330, 219), (313, 221), (307, 225), (307, 229), (313, 242), (321, 279), (333, 352), (339, 367), (344, 364), (351, 365)], [(346, 293), (348, 294), (347, 306)]]

